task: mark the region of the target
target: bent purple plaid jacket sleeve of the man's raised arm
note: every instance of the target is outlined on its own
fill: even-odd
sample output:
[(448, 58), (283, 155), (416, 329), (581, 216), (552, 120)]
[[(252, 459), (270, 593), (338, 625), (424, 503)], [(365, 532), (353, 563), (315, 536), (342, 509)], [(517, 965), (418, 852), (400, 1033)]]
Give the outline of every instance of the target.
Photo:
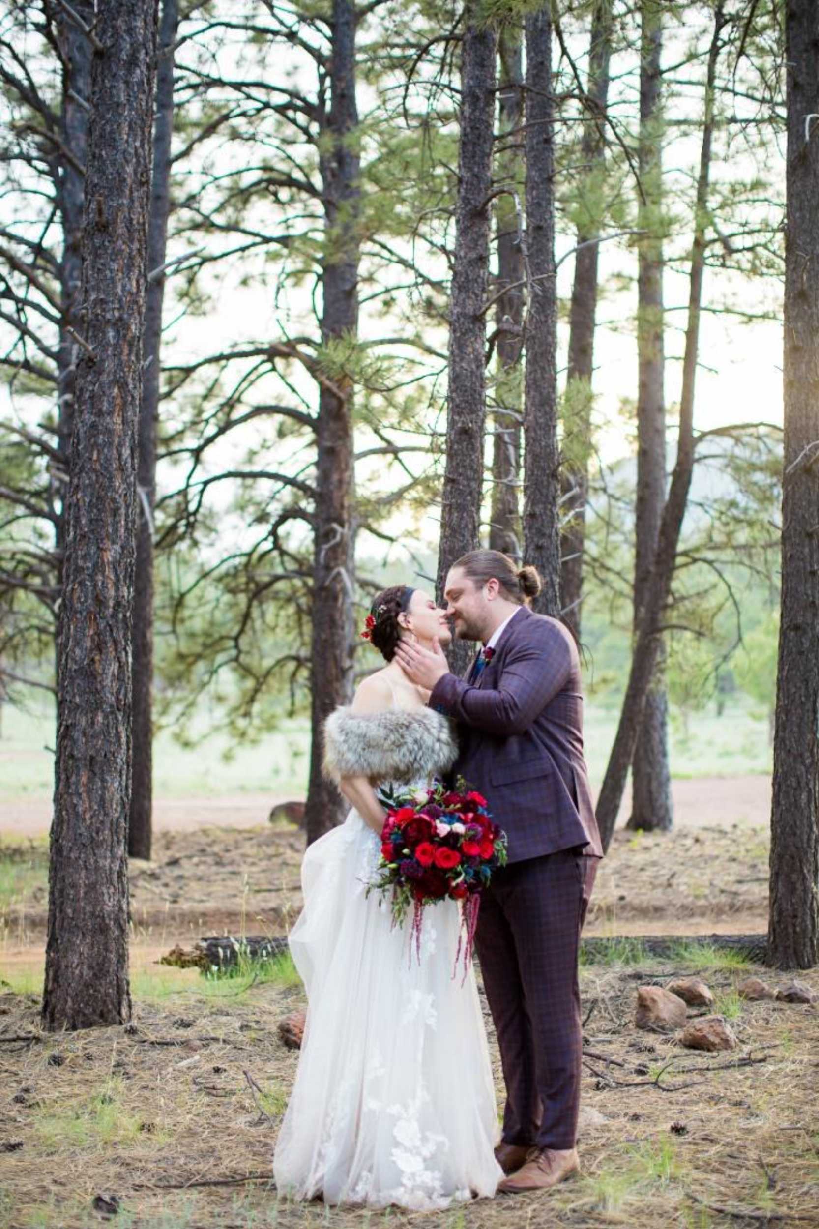
[(562, 691), (571, 672), (568, 642), (557, 628), (548, 629), (536, 639), (509, 645), (496, 688), (472, 687), (464, 678), (444, 675), (435, 683), (429, 704), (489, 734), (523, 734)]

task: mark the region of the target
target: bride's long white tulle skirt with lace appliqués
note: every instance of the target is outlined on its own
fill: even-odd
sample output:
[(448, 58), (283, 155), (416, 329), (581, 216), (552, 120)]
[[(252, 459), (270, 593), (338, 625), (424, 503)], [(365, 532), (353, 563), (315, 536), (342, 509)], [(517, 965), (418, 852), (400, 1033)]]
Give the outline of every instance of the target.
[(307, 1023), (273, 1171), (291, 1198), (433, 1211), (503, 1176), (492, 1069), (475, 972), (453, 976), (459, 903), (424, 909), (418, 957), (410, 919), (366, 896), (379, 854), (357, 811), (305, 854), (289, 941)]

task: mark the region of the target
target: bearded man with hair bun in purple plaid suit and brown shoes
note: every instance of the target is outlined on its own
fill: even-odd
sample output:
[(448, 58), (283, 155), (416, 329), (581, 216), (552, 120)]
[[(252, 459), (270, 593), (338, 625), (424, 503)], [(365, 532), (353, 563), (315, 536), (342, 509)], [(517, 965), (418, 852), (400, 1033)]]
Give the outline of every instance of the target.
[(446, 576), (455, 634), (483, 648), (465, 678), (407, 640), (396, 656), (429, 704), (461, 726), (454, 773), (486, 795), (509, 863), (483, 892), (476, 946), (501, 1046), (507, 1106), (501, 1191), (555, 1186), (579, 1169), (578, 950), (603, 857), (583, 760), (577, 648), (525, 605), (534, 568), (472, 551)]

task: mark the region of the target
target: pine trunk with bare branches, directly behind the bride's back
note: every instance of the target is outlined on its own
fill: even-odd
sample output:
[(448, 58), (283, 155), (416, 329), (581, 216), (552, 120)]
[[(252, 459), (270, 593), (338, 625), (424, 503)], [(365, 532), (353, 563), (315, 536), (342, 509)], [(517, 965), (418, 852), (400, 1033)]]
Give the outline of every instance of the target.
[[(331, 106), (320, 156), (327, 251), (321, 336), (355, 337), (358, 331), (359, 156), (355, 143), (355, 7), (333, 0)], [(310, 783), (307, 842), (338, 823), (342, 800), (321, 772), (323, 723), (353, 693), (353, 387), (349, 379), (320, 386), (316, 428), (316, 504), (311, 645)]]

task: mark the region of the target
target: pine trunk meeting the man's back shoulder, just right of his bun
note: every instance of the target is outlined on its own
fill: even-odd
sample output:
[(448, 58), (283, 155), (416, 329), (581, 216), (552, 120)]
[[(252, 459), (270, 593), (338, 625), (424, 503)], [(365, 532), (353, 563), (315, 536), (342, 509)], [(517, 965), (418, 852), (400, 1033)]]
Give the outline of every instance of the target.
[(587, 116), (580, 162), (587, 171), (592, 200), (587, 219), (577, 229), (574, 281), (569, 312), (568, 375), (563, 418), (563, 530), (561, 533), (561, 618), (580, 639), (585, 504), (589, 498), (592, 451), (592, 377), (594, 327), (598, 311), (598, 257), (600, 216), (598, 193), (605, 161), (604, 119), (609, 101), (611, 58), (611, 0), (598, 0), (592, 14), (588, 95), (594, 109)]

